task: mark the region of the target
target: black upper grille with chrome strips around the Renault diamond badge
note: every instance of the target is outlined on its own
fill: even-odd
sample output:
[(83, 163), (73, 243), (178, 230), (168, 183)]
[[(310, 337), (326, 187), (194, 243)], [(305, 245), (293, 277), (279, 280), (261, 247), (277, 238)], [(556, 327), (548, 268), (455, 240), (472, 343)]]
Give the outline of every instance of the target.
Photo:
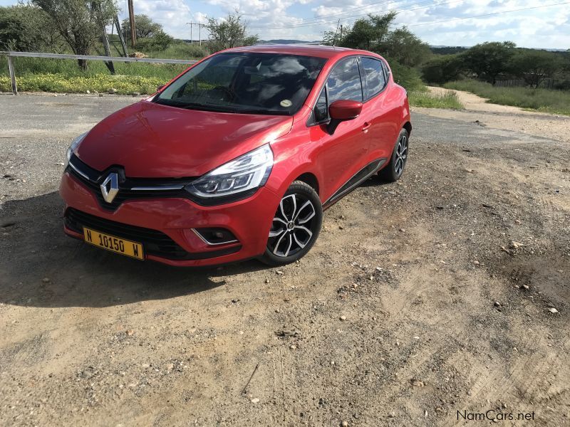
[[(185, 199), (190, 198), (190, 194), (183, 188), (190, 184), (195, 178), (128, 178), (125, 176), (123, 169), (119, 167), (110, 167), (103, 172), (100, 172), (81, 160), (73, 154), (69, 159), (69, 166), (66, 171), (73, 175), (76, 179), (81, 181), (85, 186), (90, 189), (99, 205), (109, 211), (115, 211), (120, 204), (125, 200), (136, 199), (152, 199), (157, 197), (182, 197)], [(110, 172), (117, 172), (119, 176), (119, 191), (112, 202), (108, 203), (103, 199), (100, 184), (103, 183), (105, 178)], [(178, 189), (168, 189), (168, 187), (180, 187)], [(152, 187), (152, 190), (133, 190), (137, 187)], [(164, 188), (161, 188), (164, 187)]]

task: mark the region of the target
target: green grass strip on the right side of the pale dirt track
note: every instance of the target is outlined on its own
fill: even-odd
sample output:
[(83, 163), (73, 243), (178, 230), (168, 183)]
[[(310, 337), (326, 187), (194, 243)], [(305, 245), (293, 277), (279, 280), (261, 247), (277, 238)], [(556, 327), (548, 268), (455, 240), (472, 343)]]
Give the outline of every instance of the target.
[(570, 91), (529, 88), (496, 88), (478, 80), (457, 80), (446, 83), (444, 88), (475, 93), (487, 102), (512, 105), (528, 110), (570, 115)]

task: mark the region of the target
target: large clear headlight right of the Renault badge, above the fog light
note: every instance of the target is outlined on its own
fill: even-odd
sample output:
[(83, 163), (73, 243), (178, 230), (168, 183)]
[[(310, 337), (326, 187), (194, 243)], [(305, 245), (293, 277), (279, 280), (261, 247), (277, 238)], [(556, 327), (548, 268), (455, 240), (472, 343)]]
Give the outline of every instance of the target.
[(266, 183), (272, 167), (273, 152), (266, 144), (217, 167), (185, 189), (190, 194), (207, 199), (255, 190)]

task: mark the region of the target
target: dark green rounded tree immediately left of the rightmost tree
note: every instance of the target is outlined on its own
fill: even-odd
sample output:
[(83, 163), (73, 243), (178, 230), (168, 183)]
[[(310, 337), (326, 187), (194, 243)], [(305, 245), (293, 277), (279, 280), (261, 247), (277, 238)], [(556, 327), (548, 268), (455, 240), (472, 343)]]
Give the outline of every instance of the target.
[(480, 80), (493, 85), (497, 77), (509, 72), (509, 62), (515, 53), (512, 41), (481, 43), (461, 54), (465, 67)]

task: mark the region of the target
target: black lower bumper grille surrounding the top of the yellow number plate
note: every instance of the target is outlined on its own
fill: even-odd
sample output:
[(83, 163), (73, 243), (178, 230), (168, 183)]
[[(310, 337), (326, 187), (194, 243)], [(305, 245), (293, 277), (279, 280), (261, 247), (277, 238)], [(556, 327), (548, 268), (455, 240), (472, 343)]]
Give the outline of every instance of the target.
[(125, 223), (110, 221), (105, 218), (86, 214), (77, 209), (69, 208), (65, 216), (66, 226), (76, 233), (83, 234), (83, 227), (92, 228), (101, 233), (142, 243), (147, 255), (160, 256), (170, 260), (202, 260), (217, 256), (236, 253), (242, 246), (233, 246), (219, 251), (190, 253), (161, 231), (152, 228), (130, 226)]

